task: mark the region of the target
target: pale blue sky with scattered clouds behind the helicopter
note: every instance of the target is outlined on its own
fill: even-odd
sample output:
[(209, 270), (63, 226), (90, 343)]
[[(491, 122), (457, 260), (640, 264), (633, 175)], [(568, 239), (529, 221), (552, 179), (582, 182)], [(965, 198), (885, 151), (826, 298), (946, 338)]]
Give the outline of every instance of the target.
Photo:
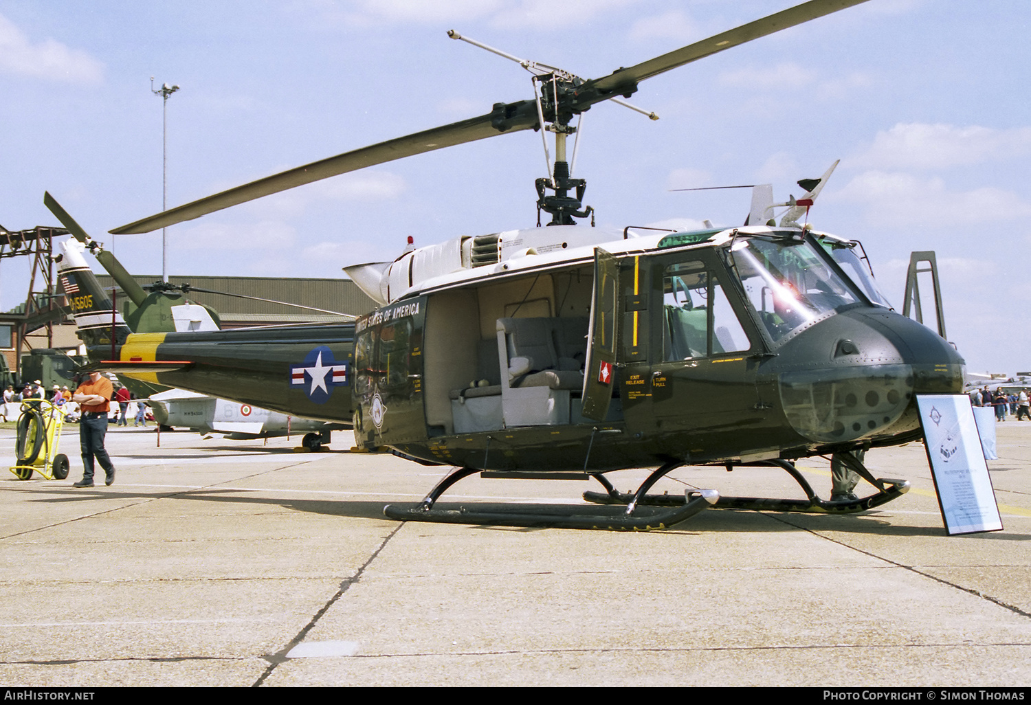
[[(609, 73), (791, 0), (0, 0), (0, 224), (57, 225), (48, 190), (107, 230), (168, 203), (532, 97), (530, 74), (456, 29), (585, 77)], [(561, 13), (556, 8), (561, 7)], [(599, 225), (737, 225), (746, 191), (841, 165), (813, 208), (858, 238), (901, 309), (910, 250), (942, 270), (949, 337), (972, 371), (1031, 369), (1031, 5), (870, 0), (641, 83), (585, 121), (574, 175)], [(535, 223), (539, 135), (523, 132), (338, 176), (168, 230), (169, 273), (340, 276), (430, 244)], [(120, 236), (160, 272), (161, 235)], [(0, 306), (24, 297), (0, 264)], [(332, 307), (333, 302), (311, 302)]]

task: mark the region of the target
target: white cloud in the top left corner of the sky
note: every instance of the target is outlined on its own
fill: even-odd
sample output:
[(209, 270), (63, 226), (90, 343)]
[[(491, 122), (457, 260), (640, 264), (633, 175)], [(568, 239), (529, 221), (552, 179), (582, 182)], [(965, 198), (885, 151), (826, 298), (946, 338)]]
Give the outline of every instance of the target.
[(99, 83), (104, 65), (86, 52), (68, 48), (54, 39), (32, 43), (0, 14), (0, 72), (47, 80)]

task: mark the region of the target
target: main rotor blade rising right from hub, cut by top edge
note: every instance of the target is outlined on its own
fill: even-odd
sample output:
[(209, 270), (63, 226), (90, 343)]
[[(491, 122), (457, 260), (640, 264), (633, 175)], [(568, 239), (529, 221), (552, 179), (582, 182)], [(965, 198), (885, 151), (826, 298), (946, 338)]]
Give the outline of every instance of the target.
[(789, 7), (775, 14), (750, 22), (747, 25), (741, 25), (714, 37), (696, 41), (694, 44), (650, 59), (630, 68), (617, 69), (607, 76), (588, 80), (578, 89), (575, 105), (578, 109), (585, 109), (612, 95), (629, 95), (636, 91), (637, 83), (645, 78), (866, 1), (810, 0), (801, 5)]

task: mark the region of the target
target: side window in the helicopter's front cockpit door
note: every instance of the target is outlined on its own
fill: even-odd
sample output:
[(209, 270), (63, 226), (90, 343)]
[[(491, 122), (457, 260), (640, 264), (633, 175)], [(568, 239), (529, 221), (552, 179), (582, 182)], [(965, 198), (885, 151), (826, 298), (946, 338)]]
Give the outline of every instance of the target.
[(663, 354), (667, 362), (752, 347), (719, 277), (704, 263), (669, 265), (662, 283)]

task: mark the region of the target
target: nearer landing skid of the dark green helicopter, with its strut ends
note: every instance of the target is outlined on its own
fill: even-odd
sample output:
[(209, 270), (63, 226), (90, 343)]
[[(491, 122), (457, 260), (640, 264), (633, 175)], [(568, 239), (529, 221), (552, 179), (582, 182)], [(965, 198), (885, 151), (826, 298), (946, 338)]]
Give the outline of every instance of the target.
[[(643, 495), (656, 479), (683, 464), (667, 464), (672, 467), (660, 468), (641, 485)], [(664, 469), (665, 468), (665, 469)], [(561, 529), (604, 529), (608, 531), (654, 531), (670, 529), (691, 518), (706, 507), (716, 504), (720, 494), (714, 490), (691, 491), (669, 502), (664, 509), (647, 507), (639, 509), (636, 504), (625, 509), (599, 513), (597, 507), (566, 505), (562, 510), (553, 508), (540, 511), (534, 505), (516, 507), (512, 505), (486, 505), (477, 507), (461, 506), (458, 509), (436, 509), (434, 503), (450, 486), (479, 470), (458, 468), (437, 482), (420, 504), (387, 505), (384, 514), (402, 522), (437, 522), (441, 524), (485, 524), (506, 527), (550, 527)], [(658, 474), (660, 473), (661, 474)], [(623, 503), (627, 504), (627, 503)]]

